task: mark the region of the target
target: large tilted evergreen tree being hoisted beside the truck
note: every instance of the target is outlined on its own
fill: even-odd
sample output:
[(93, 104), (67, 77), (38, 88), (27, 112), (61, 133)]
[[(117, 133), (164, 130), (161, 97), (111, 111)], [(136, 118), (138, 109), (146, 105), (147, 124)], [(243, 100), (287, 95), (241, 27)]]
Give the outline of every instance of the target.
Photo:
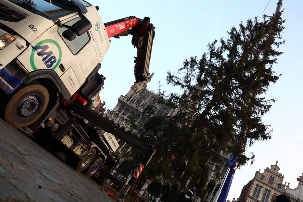
[[(182, 92), (165, 95), (160, 91), (159, 102), (178, 108), (179, 113), (152, 117), (145, 124), (148, 132), (140, 133), (157, 149), (145, 170), (148, 178), (161, 178), (175, 191), (174, 174), (185, 169), (183, 179), (191, 177), (201, 195), (208, 159), (218, 158), (218, 152), (228, 148), (243, 165), (253, 157), (245, 155), (247, 144), (271, 138), (270, 125), (261, 117), (275, 102), (265, 98), (265, 93), (279, 78), (272, 67), (281, 55), (275, 48), (284, 43), (283, 22), (280, 15), (265, 15), (263, 22), (257, 18), (241, 22), (239, 29), (227, 32), (227, 40), (208, 44), (201, 58), (186, 59), (177, 73), (168, 72), (167, 83)], [(173, 200), (171, 193), (162, 199)]]

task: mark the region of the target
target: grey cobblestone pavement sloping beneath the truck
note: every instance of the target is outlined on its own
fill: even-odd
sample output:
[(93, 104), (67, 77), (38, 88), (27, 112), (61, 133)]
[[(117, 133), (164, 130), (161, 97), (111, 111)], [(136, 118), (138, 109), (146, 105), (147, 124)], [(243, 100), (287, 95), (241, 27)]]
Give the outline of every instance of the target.
[(113, 200), (94, 181), (0, 119), (0, 201)]

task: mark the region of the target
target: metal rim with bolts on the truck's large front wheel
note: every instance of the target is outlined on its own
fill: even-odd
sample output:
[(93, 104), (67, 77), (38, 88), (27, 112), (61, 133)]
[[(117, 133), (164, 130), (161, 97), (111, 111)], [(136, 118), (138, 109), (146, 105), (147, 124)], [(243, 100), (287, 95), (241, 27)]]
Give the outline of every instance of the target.
[(28, 117), (38, 110), (39, 100), (35, 96), (25, 98), (19, 106), (19, 113), (21, 116)]

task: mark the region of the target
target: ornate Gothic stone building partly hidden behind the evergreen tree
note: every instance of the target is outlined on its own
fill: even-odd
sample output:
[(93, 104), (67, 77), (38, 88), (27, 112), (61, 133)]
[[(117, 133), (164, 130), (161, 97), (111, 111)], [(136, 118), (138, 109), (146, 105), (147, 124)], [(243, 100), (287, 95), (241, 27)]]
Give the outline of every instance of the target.
[[(130, 130), (130, 123), (128, 121), (129, 117), (134, 117), (137, 125), (143, 125), (146, 120), (148, 120), (155, 114), (165, 116), (174, 116), (175, 114), (178, 114), (180, 109), (169, 108), (166, 105), (157, 103), (156, 101), (158, 100), (159, 96), (156, 93), (147, 89), (147, 84), (151, 81), (153, 75), (154, 74), (152, 74), (146, 82), (139, 82), (132, 85), (131, 89), (125, 96), (121, 95), (118, 98), (118, 104), (115, 106), (115, 108), (113, 110), (107, 110), (105, 112), (104, 117), (106, 117), (110, 121), (113, 121), (115, 124), (117, 124), (118, 127), (125, 128), (125, 130), (128, 131)], [(149, 116), (143, 113), (144, 109), (148, 105), (155, 105), (155, 107), (157, 108), (155, 114), (151, 114)], [(122, 156), (126, 152), (133, 153), (133, 151), (135, 151), (135, 149), (133, 149), (131, 145), (128, 145), (124, 141), (120, 139), (118, 139), (117, 141), (121, 146), (120, 153)], [(208, 161), (210, 172), (208, 181), (205, 185), (205, 189), (207, 190), (205, 199), (209, 202), (212, 202), (212, 200), (214, 199), (221, 185), (223, 177), (225, 176), (226, 171), (228, 170), (228, 163), (229, 159), (231, 158), (231, 154), (228, 151), (220, 151), (219, 153), (221, 154), (220, 159), (210, 159)], [(186, 165), (187, 162), (185, 161), (184, 166), (186, 167)], [(184, 173), (185, 168), (184, 171), (180, 173), (175, 173), (175, 177), (177, 180), (179, 180), (179, 184), (182, 187), (194, 187), (194, 185), (191, 183), (191, 178), (184, 179)], [(219, 180), (215, 180), (215, 177), (218, 177), (218, 174), (221, 176), (221, 178)], [(115, 170), (115, 176), (121, 180), (124, 180), (127, 179), (130, 175), (129, 172), (124, 171), (123, 166), (121, 166)], [(181, 181), (184, 183), (181, 183)], [(138, 184), (137, 188), (138, 190), (147, 188), (149, 199), (153, 202), (161, 202), (161, 193), (157, 192), (157, 190), (159, 189), (155, 187), (155, 184), (158, 185), (159, 182), (156, 182), (155, 180), (151, 183), (146, 180), (142, 184)], [(143, 191), (141, 191), (140, 194), (143, 194)], [(200, 198), (197, 198), (195, 201), (200, 201)]]

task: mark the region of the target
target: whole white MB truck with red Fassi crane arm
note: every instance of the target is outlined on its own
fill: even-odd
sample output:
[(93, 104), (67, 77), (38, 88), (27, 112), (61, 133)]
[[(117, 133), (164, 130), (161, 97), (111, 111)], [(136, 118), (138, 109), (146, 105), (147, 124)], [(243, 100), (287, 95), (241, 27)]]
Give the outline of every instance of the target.
[(155, 148), (89, 109), (104, 85), (100, 62), (109, 38), (130, 34), (135, 83), (146, 81), (155, 27), (148, 17), (103, 23), (98, 9), (84, 0), (0, 0), (0, 115), (47, 139), (78, 171), (102, 168), (112, 178), (118, 157), (102, 130), (140, 149), (145, 165)]

